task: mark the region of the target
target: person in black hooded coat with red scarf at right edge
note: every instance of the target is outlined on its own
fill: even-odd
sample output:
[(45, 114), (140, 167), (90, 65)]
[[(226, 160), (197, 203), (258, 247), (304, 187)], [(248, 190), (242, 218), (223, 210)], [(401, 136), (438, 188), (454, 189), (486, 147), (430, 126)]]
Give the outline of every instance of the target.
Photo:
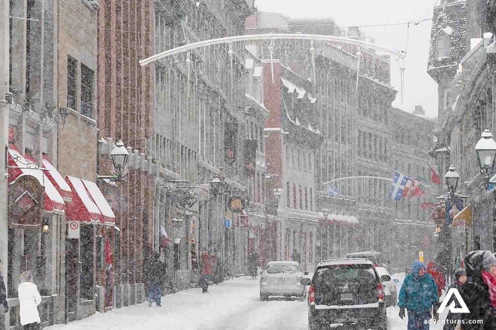
[[(461, 296), (470, 313), (460, 314), (463, 330), (496, 329), (496, 257), (490, 251), (472, 251), (465, 256), (467, 281)], [(482, 322), (482, 323), (481, 323)]]

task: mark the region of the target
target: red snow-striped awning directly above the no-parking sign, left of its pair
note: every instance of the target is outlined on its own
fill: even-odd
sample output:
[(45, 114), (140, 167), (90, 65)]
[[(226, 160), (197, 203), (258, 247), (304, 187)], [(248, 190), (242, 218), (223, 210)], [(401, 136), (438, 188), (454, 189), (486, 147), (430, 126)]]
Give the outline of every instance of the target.
[(72, 202), (69, 203), (69, 206), (67, 206), (67, 210), (65, 211), (67, 214), (67, 220), (100, 222), (102, 213), (89, 196), (82, 180), (67, 175), (65, 177), (65, 182), (69, 184), (72, 190)]

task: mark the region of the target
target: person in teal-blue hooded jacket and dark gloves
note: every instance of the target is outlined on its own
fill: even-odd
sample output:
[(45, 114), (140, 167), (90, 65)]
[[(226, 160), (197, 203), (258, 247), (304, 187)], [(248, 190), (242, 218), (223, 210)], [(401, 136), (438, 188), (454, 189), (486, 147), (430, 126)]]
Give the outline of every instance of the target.
[[(439, 307), (437, 285), (430, 274), (425, 273), (425, 265), (419, 260), (413, 263), (412, 273), (405, 277), (398, 299), (399, 317), (403, 319), (408, 311), (408, 330), (428, 330), (431, 311)], [(435, 314), (434, 319), (439, 319)]]

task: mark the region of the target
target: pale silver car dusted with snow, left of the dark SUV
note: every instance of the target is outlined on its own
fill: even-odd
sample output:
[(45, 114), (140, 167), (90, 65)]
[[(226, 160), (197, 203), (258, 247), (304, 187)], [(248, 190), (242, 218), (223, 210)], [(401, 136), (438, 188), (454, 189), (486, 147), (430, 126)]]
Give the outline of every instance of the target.
[(260, 300), (269, 296), (297, 296), (305, 300), (306, 288), (301, 287), (300, 280), (308, 273), (302, 272), (297, 261), (269, 261), (260, 274)]

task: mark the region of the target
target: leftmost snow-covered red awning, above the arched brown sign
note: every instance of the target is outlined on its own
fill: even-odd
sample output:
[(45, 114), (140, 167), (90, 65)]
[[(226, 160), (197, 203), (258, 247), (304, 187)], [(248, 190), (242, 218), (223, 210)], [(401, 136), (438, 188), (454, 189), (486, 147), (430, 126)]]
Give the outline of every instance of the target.
[[(15, 180), (17, 180), (21, 176), (31, 175), (31, 177), (34, 177), (36, 180), (38, 180), (38, 182), (44, 187), (46, 196), (44, 211), (48, 213), (54, 212), (57, 214), (63, 214), (65, 209), (64, 200), (62, 199), (62, 196), (54, 187), (52, 182), (48, 179), (47, 175), (43, 173), (45, 171), (35, 168), (24, 168), (28, 167), (28, 163), (36, 162), (29, 156), (22, 156), (17, 147), (15, 147), (14, 145), (9, 145), (8, 151), (8, 165), (14, 166), (9, 168), (9, 172), (11, 173), (11, 175), (9, 175), (9, 181), (11, 181), (10, 184), (14, 183)], [(17, 161), (14, 161), (14, 159)], [(34, 165), (31, 166), (34, 167)]]

